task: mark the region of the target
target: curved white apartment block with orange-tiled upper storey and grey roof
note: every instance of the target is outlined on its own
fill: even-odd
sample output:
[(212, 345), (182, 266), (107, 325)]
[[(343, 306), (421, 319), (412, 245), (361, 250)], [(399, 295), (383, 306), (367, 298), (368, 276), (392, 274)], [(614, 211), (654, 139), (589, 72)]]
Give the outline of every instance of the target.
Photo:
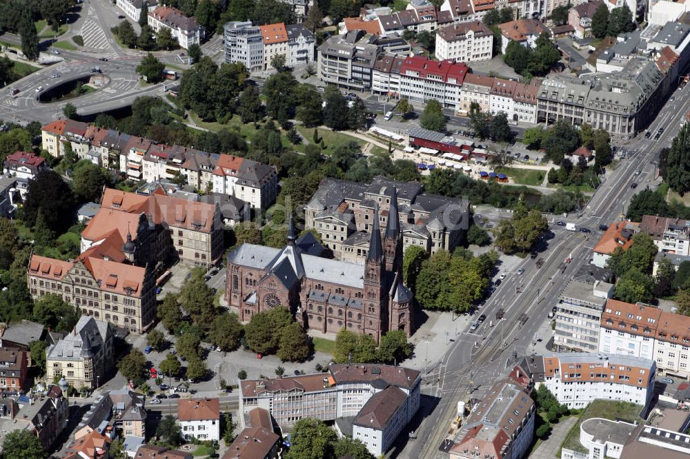
[(545, 385), (558, 402), (580, 409), (598, 398), (647, 406), (654, 394), (656, 364), (648, 358), (589, 352), (546, 354)]

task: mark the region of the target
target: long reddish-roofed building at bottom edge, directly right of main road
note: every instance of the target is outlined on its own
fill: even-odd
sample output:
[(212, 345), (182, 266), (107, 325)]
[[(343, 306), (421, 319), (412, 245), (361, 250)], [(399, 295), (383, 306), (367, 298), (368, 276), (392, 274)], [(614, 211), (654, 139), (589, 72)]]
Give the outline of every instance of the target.
[(520, 459), (534, 439), (535, 405), (515, 380), (497, 381), (462, 422), (451, 459)]

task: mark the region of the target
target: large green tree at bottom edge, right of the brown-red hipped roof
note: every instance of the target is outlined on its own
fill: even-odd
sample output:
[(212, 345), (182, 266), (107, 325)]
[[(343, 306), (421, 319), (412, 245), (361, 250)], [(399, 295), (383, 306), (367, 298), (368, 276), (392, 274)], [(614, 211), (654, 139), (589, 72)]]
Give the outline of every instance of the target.
[[(334, 0), (335, 1), (335, 0)], [(335, 431), (314, 418), (302, 418), (293, 429), (293, 445), (286, 459), (321, 459), (333, 457)]]

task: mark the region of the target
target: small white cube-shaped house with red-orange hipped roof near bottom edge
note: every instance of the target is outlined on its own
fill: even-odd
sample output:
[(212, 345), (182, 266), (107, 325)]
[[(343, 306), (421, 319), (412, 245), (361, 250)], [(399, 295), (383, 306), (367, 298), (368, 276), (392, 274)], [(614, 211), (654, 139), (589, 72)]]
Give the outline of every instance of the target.
[(217, 398), (177, 400), (177, 422), (186, 439), (220, 440), (220, 402)]

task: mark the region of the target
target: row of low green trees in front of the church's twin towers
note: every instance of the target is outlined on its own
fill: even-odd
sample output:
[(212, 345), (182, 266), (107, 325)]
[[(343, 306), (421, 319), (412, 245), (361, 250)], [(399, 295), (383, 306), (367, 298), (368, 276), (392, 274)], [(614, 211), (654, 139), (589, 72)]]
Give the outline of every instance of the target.
[(412, 355), (412, 345), (407, 342), (407, 336), (402, 330), (393, 330), (376, 340), (368, 334), (355, 334), (347, 329), (338, 332), (333, 350), (335, 363), (372, 363), (386, 364), (401, 363)]

